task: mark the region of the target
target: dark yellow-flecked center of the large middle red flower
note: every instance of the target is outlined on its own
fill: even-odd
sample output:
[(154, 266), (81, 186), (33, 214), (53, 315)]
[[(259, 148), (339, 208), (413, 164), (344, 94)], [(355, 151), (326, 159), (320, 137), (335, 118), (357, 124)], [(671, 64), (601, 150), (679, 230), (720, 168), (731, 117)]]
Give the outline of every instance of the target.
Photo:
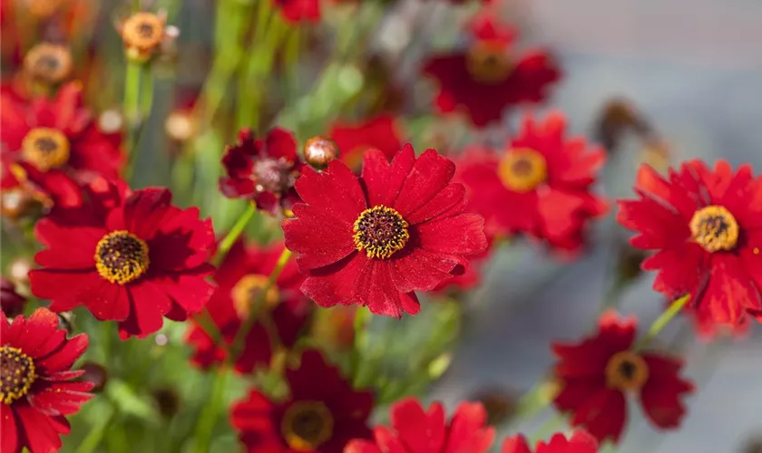
[(378, 205), (364, 210), (355, 220), (355, 246), (368, 258), (386, 259), (402, 250), (410, 239), (407, 222), (395, 209)]

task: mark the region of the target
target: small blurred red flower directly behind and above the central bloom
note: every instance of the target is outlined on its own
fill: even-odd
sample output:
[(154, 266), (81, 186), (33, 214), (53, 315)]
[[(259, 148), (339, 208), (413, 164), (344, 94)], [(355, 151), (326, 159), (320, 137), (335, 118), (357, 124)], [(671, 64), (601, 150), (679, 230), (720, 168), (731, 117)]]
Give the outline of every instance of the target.
[(402, 148), (395, 117), (389, 114), (360, 124), (335, 124), (330, 136), (341, 149), (341, 160), (350, 169), (360, 168), (367, 149), (380, 149), (387, 159), (392, 159)]

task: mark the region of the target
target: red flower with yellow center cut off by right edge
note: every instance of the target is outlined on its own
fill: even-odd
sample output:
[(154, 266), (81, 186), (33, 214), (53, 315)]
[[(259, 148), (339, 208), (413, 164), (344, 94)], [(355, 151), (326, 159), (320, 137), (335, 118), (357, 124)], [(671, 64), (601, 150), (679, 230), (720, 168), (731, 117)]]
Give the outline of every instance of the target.
[(657, 250), (642, 264), (659, 271), (653, 288), (673, 300), (690, 294), (715, 323), (762, 322), (762, 178), (748, 165), (734, 173), (725, 160), (714, 170), (691, 160), (669, 180), (641, 167), (635, 192), (617, 220), (639, 233), (632, 246)]

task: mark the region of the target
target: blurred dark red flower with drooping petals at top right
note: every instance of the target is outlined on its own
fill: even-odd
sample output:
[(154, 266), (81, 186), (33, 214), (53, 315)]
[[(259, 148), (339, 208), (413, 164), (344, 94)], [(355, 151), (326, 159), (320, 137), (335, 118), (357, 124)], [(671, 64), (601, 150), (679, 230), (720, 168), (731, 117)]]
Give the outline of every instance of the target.
[(465, 50), (437, 55), (423, 71), (439, 85), (435, 106), (465, 111), (477, 127), (501, 120), (512, 105), (545, 99), (561, 71), (544, 49), (516, 50), (516, 32), (480, 14), (470, 24), (472, 43)]

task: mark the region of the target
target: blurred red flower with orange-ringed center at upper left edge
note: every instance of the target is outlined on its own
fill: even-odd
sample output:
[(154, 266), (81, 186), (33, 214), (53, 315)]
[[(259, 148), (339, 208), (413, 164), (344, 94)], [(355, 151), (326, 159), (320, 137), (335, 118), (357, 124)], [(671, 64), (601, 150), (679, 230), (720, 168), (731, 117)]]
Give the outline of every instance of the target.
[[(120, 134), (104, 134), (83, 106), (82, 84), (64, 85), (53, 100), (18, 101), (0, 92), (0, 153), (41, 172), (63, 169), (80, 182), (117, 178), (124, 156)], [(7, 182), (0, 182), (4, 187)]]

